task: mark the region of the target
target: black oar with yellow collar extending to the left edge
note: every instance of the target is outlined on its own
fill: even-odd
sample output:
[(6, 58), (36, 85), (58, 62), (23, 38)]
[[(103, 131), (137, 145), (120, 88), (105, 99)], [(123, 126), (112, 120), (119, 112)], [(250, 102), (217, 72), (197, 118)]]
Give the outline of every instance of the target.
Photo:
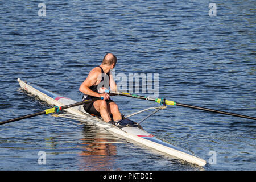
[(69, 109), (71, 107), (80, 106), (80, 105), (87, 104), (87, 103), (90, 103), (90, 102), (93, 102), (93, 101), (96, 101), (96, 100), (99, 100), (99, 99), (102, 99), (102, 97), (88, 99), (88, 100), (84, 100), (84, 101), (81, 101), (81, 102), (76, 102), (74, 104), (69, 104), (69, 105), (65, 105), (65, 106), (61, 106), (61, 107), (55, 106), (55, 107), (52, 107), (51, 109), (46, 109), (46, 110), (40, 111), (38, 113), (23, 115), (22, 117), (2, 121), (2, 122), (0, 122), (0, 125), (3, 125), (5, 123), (14, 122), (14, 121), (19, 121), (19, 120), (26, 119), (26, 118), (32, 118), (32, 117), (35, 117), (37, 115), (56, 113), (56, 110), (59, 111), (59, 110)]

